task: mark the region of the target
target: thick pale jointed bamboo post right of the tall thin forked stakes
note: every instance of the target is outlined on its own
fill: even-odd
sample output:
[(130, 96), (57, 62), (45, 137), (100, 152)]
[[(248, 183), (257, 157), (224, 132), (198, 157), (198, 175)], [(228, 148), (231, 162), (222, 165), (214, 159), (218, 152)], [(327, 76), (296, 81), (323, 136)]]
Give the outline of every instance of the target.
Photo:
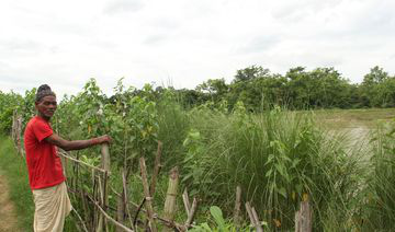
[[(163, 219), (168, 221), (173, 221), (174, 218), (178, 185), (179, 185), (179, 172), (178, 172), (178, 167), (176, 166), (170, 171), (169, 187), (165, 200)], [(163, 231), (170, 231), (170, 230), (169, 228), (165, 228)]]

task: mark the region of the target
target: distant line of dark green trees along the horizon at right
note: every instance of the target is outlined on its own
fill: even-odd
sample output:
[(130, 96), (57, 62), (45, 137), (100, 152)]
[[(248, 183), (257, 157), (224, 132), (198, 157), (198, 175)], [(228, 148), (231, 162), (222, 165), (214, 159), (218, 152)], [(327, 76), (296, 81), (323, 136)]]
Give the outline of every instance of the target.
[(185, 106), (212, 103), (232, 109), (242, 102), (252, 112), (275, 105), (290, 109), (395, 106), (395, 76), (377, 66), (364, 76), (362, 83), (351, 83), (334, 68), (308, 71), (296, 67), (282, 76), (251, 66), (238, 70), (229, 84), (225, 79), (211, 79), (194, 90), (176, 91)]

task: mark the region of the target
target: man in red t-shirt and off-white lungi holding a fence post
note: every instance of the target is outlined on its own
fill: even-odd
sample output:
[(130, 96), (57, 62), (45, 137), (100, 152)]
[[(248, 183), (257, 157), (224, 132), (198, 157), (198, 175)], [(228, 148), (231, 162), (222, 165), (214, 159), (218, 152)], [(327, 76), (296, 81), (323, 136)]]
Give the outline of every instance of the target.
[(35, 205), (34, 231), (61, 232), (71, 204), (56, 147), (79, 150), (111, 142), (111, 138), (68, 141), (54, 134), (49, 120), (57, 107), (56, 95), (46, 84), (37, 90), (35, 107), (38, 114), (27, 123), (24, 132), (29, 183)]

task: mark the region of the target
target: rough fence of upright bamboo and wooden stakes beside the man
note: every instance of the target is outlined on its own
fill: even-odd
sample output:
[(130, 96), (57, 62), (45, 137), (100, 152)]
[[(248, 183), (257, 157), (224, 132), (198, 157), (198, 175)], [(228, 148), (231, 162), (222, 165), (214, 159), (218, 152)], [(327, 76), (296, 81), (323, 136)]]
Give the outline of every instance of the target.
[[(14, 141), (18, 154), (25, 158), (25, 151), (22, 147), (22, 117), (16, 111), (13, 114), (11, 138)], [(58, 155), (63, 160), (64, 172), (67, 177), (66, 184), (68, 193), (74, 201), (72, 214), (77, 219), (76, 227), (84, 232), (109, 232), (109, 231), (188, 231), (193, 225), (193, 219), (196, 213), (199, 200), (191, 199), (187, 188), (181, 195), (183, 207), (187, 214), (184, 222), (174, 221), (177, 210), (177, 198), (179, 197), (179, 171), (173, 167), (169, 173), (169, 184), (166, 193), (163, 212), (159, 214), (155, 211), (154, 196), (156, 192), (156, 182), (160, 173), (160, 158), (162, 143), (158, 142), (155, 164), (151, 178), (148, 178), (146, 162), (144, 158), (139, 159), (140, 179), (144, 189), (144, 197), (139, 204), (133, 202), (131, 198), (129, 166), (125, 165), (121, 176), (113, 176), (111, 173), (110, 149), (104, 143), (101, 147), (101, 164), (92, 165), (82, 161), (77, 155), (58, 150)], [(110, 178), (121, 178), (122, 189), (116, 192), (109, 185)], [(90, 179), (87, 182), (87, 179)], [(89, 185), (88, 185), (89, 184)], [(110, 200), (110, 196), (115, 199)], [(241, 188), (236, 189), (236, 201), (233, 220), (240, 228), (241, 223)], [(245, 204), (246, 212), (250, 219), (255, 231), (262, 232), (262, 222), (250, 202)], [(301, 209), (295, 214), (295, 232), (312, 231), (312, 209), (308, 200), (301, 202)]]

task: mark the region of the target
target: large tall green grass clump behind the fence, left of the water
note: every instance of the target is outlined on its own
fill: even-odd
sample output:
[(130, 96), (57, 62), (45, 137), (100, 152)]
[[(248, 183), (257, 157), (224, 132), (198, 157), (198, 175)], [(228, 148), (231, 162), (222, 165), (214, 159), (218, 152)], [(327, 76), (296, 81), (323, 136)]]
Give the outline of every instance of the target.
[[(345, 135), (319, 129), (311, 114), (195, 111), (184, 142), (185, 184), (230, 212), (237, 185), (271, 225), (293, 227), (309, 198), (315, 229), (345, 229), (354, 211), (361, 166)], [(358, 147), (357, 147), (358, 148)]]

